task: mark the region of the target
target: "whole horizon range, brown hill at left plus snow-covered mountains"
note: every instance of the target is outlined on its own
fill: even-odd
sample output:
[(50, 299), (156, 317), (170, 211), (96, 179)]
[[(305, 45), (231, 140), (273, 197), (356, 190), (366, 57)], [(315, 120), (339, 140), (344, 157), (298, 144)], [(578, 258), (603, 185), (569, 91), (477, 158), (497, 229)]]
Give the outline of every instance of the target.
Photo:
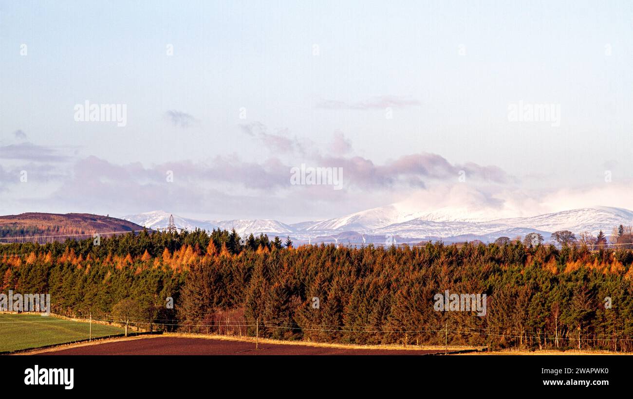
[[(432, 212), (408, 209), (402, 204), (356, 212), (341, 218), (286, 224), (271, 219), (209, 220), (182, 218), (173, 215), (175, 225), (185, 230), (231, 230), (242, 236), (260, 233), (268, 236), (290, 236), (297, 243), (417, 243), (420, 241), (492, 242), (500, 236), (515, 238), (540, 233), (549, 240), (551, 233), (570, 230), (579, 235), (587, 231), (597, 235), (602, 230), (610, 235), (619, 224), (633, 225), (633, 212), (628, 209), (592, 206), (554, 212), (529, 218), (492, 219), (484, 211), (444, 208)], [(94, 233), (139, 231), (165, 228), (170, 213), (153, 211), (125, 216), (125, 220), (94, 214), (49, 214), (29, 212), (0, 216), (0, 243), (37, 236), (39, 242), (87, 238)]]

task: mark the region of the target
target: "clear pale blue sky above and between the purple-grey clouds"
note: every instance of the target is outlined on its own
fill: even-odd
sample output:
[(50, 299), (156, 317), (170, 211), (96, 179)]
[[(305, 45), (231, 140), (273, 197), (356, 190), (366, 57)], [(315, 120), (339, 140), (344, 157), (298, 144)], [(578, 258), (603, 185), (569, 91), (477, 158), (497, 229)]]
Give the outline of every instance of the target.
[[(520, 181), (513, 190), (593, 187), (604, 183), (606, 169), (616, 183), (632, 177), (630, 1), (395, 3), (4, 1), (0, 145), (14, 144), (22, 130), (28, 142), (76, 159), (140, 162), (146, 171), (216, 156), (304, 161), (300, 153), (266, 152), (239, 126), (261, 123), (269, 134), (320, 147), (322, 156), (331, 155), (327, 143), (340, 132), (353, 147), (347, 157), (378, 165), (420, 152), (451, 164), (494, 165)], [(20, 56), (21, 44), (27, 56)], [(173, 56), (166, 56), (167, 44)], [(413, 104), (393, 106), (387, 119), (385, 99)], [(75, 122), (73, 106), (85, 100), (127, 104), (127, 126)], [(560, 127), (508, 121), (508, 104), (520, 100), (560, 104)], [(328, 109), (326, 102), (366, 106)], [(246, 120), (239, 118), (242, 107)], [(195, 121), (174, 126), (165, 116), (170, 110)], [(0, 151), (5, 172), (19, 164)], [(49, 178), (49, 191), (32, 188), (27, 195), (9, 179), (5, 195), (26, 195), (37, 210), (80, 211), (70, 208), (85, 204), (47, 197), (65, 183)], [(206, 182), (199, 193), (225, 191), (225, 184)], [(369, 199), (346, 197), (343, 211), (390, 200), (384, 188), (360, 192)], [(248, 185), (234, 194), (266, 195)], [(289, 197), (275, 192), (270, 200), (280, 198)], [(135, 205), (110, 213), (160, 206)], [(213, 213), (176, 205), (184, 214)], [(315, 204), (307, 213), (340, 213), (320, 209)], [(0, 212), (28, 210), (24, 202), (0, 206)], [(214, 215), (284, 216), (265, 205), (227, 213)]]

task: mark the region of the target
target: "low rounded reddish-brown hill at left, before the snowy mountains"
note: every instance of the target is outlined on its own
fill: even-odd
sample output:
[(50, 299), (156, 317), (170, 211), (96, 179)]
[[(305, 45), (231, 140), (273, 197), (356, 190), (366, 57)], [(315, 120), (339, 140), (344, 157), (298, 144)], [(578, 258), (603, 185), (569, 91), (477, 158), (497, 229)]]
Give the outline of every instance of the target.
[(90, 238), (112, 233), (141, 231), (142, 226), (122, 219), (88, 213), (28, 212), (0, 216), (0, 243), (64, 241), (67, 238)]

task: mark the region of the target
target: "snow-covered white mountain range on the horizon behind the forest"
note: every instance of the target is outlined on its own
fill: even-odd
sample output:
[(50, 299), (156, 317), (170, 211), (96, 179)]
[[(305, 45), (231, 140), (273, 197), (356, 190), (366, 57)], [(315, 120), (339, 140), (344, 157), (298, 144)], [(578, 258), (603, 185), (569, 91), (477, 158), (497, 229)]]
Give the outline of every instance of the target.
[[(125, 216), (124, 219), (147, 228), (165, 228), (170, 214), (153, 211)], [(187, 230), (221, 228), (240, 235), (253, 233), (269, 236), (290, 236), (299, 242), (384, 243), (394, 237), (396, 242), (442, 240), (492, 242), (500, 236), (515, 238), (537, 232), (549, 240), (551, 233), (570, 230), (579, 235), (584, 231), (605, 235), (619, 224), (633, 225), (633, 212), (628, 209), (592, 206), (554, 212), (529, 218), (489, 219), (484, 211), (444, 208), (432, 212), (407, 209), (401, 204), (356, 212), (341, 218), (286, 224), (271, 219), (200, 221), (173, 215), (177, 227)], [(391, 239), (391, 238), (389, 238)]]

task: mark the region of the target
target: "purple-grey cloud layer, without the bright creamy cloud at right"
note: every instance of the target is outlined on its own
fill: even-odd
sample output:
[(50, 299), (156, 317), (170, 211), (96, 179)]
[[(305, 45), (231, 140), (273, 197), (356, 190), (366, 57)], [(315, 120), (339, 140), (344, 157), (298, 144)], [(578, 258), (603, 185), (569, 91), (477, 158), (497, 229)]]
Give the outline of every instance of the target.
[[(363, 207), (380, 206), (393, 195), (406, 195), (429, 183), (453, 185), (463, 170), (468, 178), (491, 184), (511, 183), (513, 178), (494, 166), (451, 164), (437, 154), (409, 154), (384, 164), (355, 156), (351, 142), (341, 132), (325, 144), (328, 155), (303, 147), (285, 135), (268, 133), (266, 126), (240, 126), (247, 135), (267, 143), (265, 161), (244, 160), (237, 154), (209, 161), (173, 161), (144, 166), (114, 164), (96, 156), (68, 157), (54, 149), (27, 144), (3, 147), (9, 158), (0, 159), (3, 195), (17, 211), (62, 211), (129, 214), (152, 209), (215, 214), (219, 218), (289, 218), (307, 215), (340, 216)], [(278, 139), (278, 140), (276, 140)], [(311, 148), (312, 146), (310, 146)], [(281, 151), (285, 149), (284, 151)], [(7, 166), (4, 159), (18, 163)], [(37, 159), (37, 162), (32, 161)], [(63, 161), (63, 162), (62, 162)], [(343, 190), (327, 185), (291, 185), (291, 168), (343, 168)], [(55, 183), (51, 194), (20, 198), (19, 171), (29, 174), (28, 184)], [(173, 182), (167, 181), (173, 173)], [(494, 202), (482, 193), (482, 198)]]

